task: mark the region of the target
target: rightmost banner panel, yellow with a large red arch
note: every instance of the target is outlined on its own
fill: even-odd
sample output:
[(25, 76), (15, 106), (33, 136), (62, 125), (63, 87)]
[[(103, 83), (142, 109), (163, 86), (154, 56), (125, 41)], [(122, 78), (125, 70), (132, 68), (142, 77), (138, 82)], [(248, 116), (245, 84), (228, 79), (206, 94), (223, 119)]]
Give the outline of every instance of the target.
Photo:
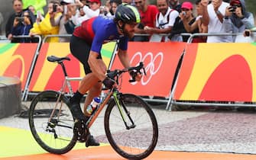
[(174, 100), (256, 101), (255, 43), (192, 43)]

